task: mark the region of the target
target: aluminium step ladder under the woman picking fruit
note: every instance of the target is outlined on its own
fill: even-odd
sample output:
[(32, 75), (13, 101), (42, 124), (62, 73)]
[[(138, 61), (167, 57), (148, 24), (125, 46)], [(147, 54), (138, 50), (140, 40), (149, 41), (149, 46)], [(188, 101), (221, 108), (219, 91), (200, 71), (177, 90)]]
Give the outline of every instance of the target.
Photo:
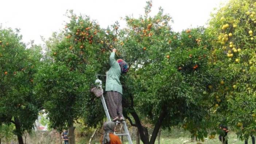
[[(98, 86), (98, 87), (101, 87), (101, 88), (102, 88), (102, 81), (101, 81), (100, 79), (97, 78), (96, 81), (95, 81), (95, 83), (97, 83), (97, 86)], [(111, 118), (110, 118), (110, 115), (109, 115), (109, 112), (108, 112), (108, 108), (107, 108), (107, 106), (106, 106), (106, 102), (105, 102), (105, 98), (104, 98), (103, 94), (100, 96), (100, 99), (101, 99), (101, 103), (102, 103), (102, 105), (103, 105), (103, 108), (104, 108), (104, 110), (105, 110), (105, 114), (106, 114), (107, 120), (108, 120), (108, 121), (111, 121)], [(123, 118), (124, 118), (124, 116), (123, 116)], [(122, 121), (122, 122), (120, 122), (120, 123), (123, 124), (123, 128), (124, 128), (124, 132), (125, 132), (125, 133), (120, 133), (120, 134), (115, 134), (115, 135), (117, 135), (117, 136), (127, 136), (127, 139), (128, 139), (128, 141), (129, 141), (129, 144), (132, 144), (132, 139), (131, 139), (131, 136), (130, 136), (130, 134), (129, 134), (129, 131), (128, 131), (128, 128), (127, 128), (127, 125), (126, 125), (125, 120)], [(118, 124), (118, 123), (116, 123), (116, 124)]]

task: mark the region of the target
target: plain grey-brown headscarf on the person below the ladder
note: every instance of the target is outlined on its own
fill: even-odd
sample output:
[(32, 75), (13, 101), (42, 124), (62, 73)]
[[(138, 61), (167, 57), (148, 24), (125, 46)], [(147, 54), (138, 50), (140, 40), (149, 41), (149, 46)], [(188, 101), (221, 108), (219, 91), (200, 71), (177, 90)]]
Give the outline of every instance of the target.
[(105, 133), (103, 135), (101, 144), (109, 144), (110, 143), (109, 133), (114, 133), (115, 127), (116, 127), (115, 122), (113, 122), (113, 121), (105, 122), (105, 124), (103, 125), (103, 129), (104, 129)]

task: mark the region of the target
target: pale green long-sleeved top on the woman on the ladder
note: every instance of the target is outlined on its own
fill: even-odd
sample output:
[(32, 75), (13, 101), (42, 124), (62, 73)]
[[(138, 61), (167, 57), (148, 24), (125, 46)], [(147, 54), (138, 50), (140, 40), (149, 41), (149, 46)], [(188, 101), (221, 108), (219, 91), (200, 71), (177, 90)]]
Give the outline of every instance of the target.
[(121, 68), (115, 59), (115, 52), (111, 52), (109, 62), (111, 67), (106, 73), (106, 91), (116, 91), (123, 94), (123, 88), (119, 80)]

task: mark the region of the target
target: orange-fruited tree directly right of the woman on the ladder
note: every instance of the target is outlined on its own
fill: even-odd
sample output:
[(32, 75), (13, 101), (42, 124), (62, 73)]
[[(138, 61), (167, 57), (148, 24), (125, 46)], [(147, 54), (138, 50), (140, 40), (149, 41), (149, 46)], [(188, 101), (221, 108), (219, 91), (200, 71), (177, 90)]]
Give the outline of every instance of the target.
[[(130, 65), (123, 77), (124, 115), (144, 144), (155, 142), (160, 127), (177, 125), (202, 139), (215, 105), (208, 96), (216, 81), (207, 65), (209, 38), (204, 28), (172, 32), (171, 17), (162, 8), (151, 17), (151, 7), (149, 1), (144, 16), (127, 16), (128, 27), (118, 34), (117, 50)], [(151, 138), (142, 119), (154, 125)]]

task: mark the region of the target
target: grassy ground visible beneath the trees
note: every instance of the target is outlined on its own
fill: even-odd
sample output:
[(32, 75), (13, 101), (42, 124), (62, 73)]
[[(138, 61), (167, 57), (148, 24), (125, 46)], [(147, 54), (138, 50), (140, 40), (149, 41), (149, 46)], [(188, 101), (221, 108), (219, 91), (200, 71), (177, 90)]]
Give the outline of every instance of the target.
[[(149, 131), (151, 133), (151, 131)], [(171, 132), (162, 131), (160, 137), (160, 144), (197, 144), (197, 141), (192, 141), (190, 138), (190, 133), (182, 129), (173, 129)], [(87, 144), (90, 137), (77, 137), (76, 144)], [(136, 144), (135, 133), (132, 134), (133, 144)], [(94, 137), (92, 144), (100, 144), (100, 135)], [(234, 132), (228, 133), (228, 143), (229, 144), (244, 144), (244, 141), (241, 141), (237, 138)], [(251, 144), (252, 140), (248, 140), (248, 144)], [(15, 143), (16, 144), (16, 143)], [(28, 136), (27, 144), (59, 144), (58, 134), (56, 132), (34, 132)], [(124, 136), (124, 143), (128, 144), (127, 138)], [(140, 144), (143, 144), (140, 141)], [(155, 144), (158, 144), (158, 137)], [(221, 144), (218, 140), (218, 136), (215, 136), (215, 139), (205, 138), (205, 141), (202, 144)]]

